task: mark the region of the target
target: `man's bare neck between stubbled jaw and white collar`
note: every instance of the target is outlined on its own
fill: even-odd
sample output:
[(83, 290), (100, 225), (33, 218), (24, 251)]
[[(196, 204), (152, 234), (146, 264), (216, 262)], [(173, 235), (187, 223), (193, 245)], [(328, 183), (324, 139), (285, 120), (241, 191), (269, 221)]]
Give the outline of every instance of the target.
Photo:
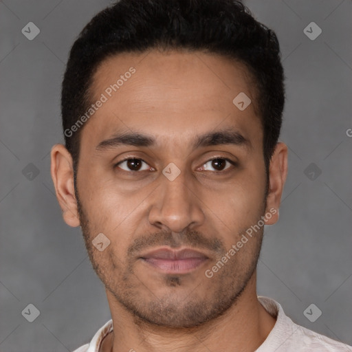
[(108, 290), (107, 296), (113, 332), (104, 339), (103, 352), (250, 352), (264, 342), (275, 324), (258, 301), (255, 274), (225, 314), (193, 328), (151, 325), (126, 311)]

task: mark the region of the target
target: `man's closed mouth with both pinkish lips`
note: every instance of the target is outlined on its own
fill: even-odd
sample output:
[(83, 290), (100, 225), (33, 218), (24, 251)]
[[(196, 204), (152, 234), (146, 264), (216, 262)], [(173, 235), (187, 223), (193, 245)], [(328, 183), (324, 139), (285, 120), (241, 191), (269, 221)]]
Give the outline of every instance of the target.
[(160, 248), (143, 254), (140, 259), (164, 274), (187, 274), (208, 261), (209, 257), (189, 248), (183, 250)]

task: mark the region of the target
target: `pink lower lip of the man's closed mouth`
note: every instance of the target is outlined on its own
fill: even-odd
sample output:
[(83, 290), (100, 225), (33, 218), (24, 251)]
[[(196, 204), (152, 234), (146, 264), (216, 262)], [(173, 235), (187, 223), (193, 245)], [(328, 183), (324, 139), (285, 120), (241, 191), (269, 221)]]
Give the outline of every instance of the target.
[(157, 267), (166, 274), (186, 274), (197, 269), (201, 264), (207, 261), (207, 258), (187, 258), (187, 259), (159, 259), (159, 258), (142, 258), (143, 261)]

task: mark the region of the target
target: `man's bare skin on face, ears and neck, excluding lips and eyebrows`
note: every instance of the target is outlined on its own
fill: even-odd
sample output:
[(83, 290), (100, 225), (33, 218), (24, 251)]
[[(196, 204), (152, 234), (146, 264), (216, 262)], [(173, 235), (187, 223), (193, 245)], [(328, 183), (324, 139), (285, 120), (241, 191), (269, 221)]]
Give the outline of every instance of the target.
[[(51, 153), (63, 218), (82, 227), (106, 287), (114, 330), (102, 351), (255, 351), (275, 324), (256, 296), (263, 228), (212, 278), (204, 272), (261, 216), (278, 210), (287, 146), (276, 145), (265, 199), (263, 130), (254, 83), (241, 63), (175, 50), (119, 54), (98, 67), (92, 101), (131, 66), (135, 74), (81, 131), (76, 194), (71, 155), (62, 144)], [(252, 100), (244, 111), (232, 103), (240, 92)], [(192, 147), (197, 135), (229, 129), (248, 144)], [(135, 131), (155, 145), (96, 148), (115, 133)], [(114, 166), (125, 157), (143, 159), (142, 170)], [(222, 160), (217, 170), (214, 157), (236, 165)], [(170, 162), (180, 170), (173, 181), (162, 173)], [(266, 224), (277, 220), (278, 211)], [(102, 252), (91, 243), (100, 232), (111, 241)], [(163, 245), (198, 249), (208, 261), (171, 275), (139, 259)]]

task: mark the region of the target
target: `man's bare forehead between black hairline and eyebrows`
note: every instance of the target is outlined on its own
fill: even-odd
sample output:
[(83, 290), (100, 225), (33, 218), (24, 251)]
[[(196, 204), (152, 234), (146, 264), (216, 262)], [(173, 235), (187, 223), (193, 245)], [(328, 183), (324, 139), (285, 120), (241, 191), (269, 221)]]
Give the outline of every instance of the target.
[[(96, 69), (91, 102), (102, 95), (106, 101), (83, 135), (93, 141), (122, 129), (170, 142), (171, 136), (206, 133), (217, 126), (258, 135), (254, 91), (248, 69), (223, 56), (175, 50), (118, 54)], [(232, 100), (243, 93), (253, 104), (240, 111)]]

